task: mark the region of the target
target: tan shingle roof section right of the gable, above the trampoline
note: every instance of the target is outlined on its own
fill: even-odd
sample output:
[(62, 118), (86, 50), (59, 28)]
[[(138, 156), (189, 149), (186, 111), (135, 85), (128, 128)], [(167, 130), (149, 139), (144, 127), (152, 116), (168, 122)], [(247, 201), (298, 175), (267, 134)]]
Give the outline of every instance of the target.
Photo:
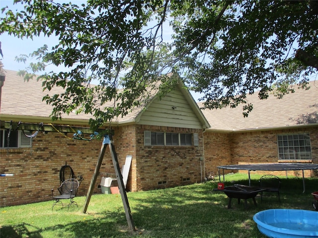
[[(242, 106), (216, 110), (202, 110), (209, 121), (209, 130), (239, 131), (269, 129), (306, 124), (318, 125), (318, 81), (309, 82), (310, 89), (298, 89), (282, 99), (270, 95), (266, 100), (258, 98), (258, 92), (247, 96), (253, 110), (243, 117)], [(200, 108), (203, 103), (198, 104)]]

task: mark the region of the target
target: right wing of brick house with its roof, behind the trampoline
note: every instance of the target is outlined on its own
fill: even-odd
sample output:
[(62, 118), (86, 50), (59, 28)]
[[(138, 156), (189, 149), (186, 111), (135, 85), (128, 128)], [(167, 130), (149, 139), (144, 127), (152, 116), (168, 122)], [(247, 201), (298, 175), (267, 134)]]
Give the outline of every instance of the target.
[[(203, 110), (211, 124), (204, 132), (207, 171), (217, 173), (216, 167), (221, 165), (318, 164), (318, 82), (310, 81), (309, 86), (309, 90), (295, 86), (295, 93), (282, 99), (272, 94), (266, 100), (259, 100), (257, 93), (247, 95), (247, 102), (253, 104), (247, 118), (242, 115), (242, 106)], [(285, 171), (281, 173), (286, 175)], [(289, 171), (288, 175), (301, 173)], [(305, 174), (316, 176), (315, 171)]]

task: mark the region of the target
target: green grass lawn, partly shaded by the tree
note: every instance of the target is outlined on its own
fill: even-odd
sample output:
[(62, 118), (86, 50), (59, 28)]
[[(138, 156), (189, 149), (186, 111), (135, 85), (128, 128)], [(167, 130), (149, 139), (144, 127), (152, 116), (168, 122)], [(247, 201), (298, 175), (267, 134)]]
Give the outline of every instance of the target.
[[(251, 175), (252, 184), (260, 176)], [(248, 185), (247, 175), (227, 175), (225, 185)], [(213, 191), (217, 181), (127, 193), (137, 231), (128, 229), (120, 195), (96, 194), (91, 197), (87, 213), (82, 213), (85, 197), (77, 197), (79, 207), (56, 207), (53, 201), (0, 208), (1, 238), (265, 238), (253, 221), (258, 211), (271, 208), (313, 210), (313, 191), (318, 179), (306, 179), (303, 193), (301, 178), (282, 179), (281, 203), (276, 197), (260, 201), (257, 207), (248, 201), (233, 199)], [(48, 191), (50, 192), (50, 191)]]

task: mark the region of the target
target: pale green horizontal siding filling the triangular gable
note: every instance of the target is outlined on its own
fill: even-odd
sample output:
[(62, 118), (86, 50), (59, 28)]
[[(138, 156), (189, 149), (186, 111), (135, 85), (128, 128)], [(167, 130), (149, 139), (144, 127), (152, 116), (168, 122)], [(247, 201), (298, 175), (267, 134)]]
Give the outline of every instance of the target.
[(155, 99), (142, 114), (138, 124), (195, 129), (203, 126), (178, 88), (160, 101)]

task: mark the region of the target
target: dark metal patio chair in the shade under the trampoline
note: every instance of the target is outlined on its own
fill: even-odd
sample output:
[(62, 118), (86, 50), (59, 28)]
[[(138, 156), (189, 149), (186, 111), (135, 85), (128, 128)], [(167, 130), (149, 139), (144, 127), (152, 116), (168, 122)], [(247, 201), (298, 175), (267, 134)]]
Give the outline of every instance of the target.
[[(267, 192), (269, 192), (269, 193), (277, 193), (278, 201), (280, 202), (279, 189), (280, 189), (281, 181), (277, 176), (275, 176), (275, 175), (263, 175), (258, 180), (258, 183), (259, 183), (260, 188), (266, 188), (265, 191), (262, 191), (260, 193), (261, 201), (263, 201), (263, 196), (265, 196), (265, 194)], [(266, 195), (269, 195), (269, 193)]]

